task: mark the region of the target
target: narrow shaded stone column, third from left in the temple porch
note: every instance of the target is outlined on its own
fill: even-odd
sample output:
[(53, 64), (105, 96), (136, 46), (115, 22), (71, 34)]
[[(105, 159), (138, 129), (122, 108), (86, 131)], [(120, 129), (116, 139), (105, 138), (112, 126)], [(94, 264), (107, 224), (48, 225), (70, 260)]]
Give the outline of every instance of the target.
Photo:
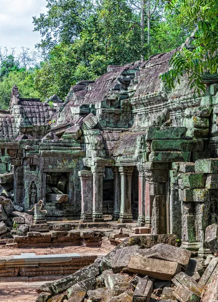
[(121, 177), (118, 167), (113, 168), (114, 174), (114, 213), (113, 219), (118, 220), (121, 208)]

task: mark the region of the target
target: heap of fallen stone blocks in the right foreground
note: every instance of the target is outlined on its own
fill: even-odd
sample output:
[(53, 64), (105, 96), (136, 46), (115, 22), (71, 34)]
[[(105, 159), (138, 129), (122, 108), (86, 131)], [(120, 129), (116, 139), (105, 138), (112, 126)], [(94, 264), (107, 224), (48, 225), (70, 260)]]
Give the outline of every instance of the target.
[(218, 257), (191, 258), (190, 251), (173, 245), (150, 241), (147, 248), (134, 243), (127, 239), (88, 267), (45, 283), (37, 289), (36, 302), (215, 302), (218, 299), (217, 290), (215, 295), (213, 292), (218, 287)]

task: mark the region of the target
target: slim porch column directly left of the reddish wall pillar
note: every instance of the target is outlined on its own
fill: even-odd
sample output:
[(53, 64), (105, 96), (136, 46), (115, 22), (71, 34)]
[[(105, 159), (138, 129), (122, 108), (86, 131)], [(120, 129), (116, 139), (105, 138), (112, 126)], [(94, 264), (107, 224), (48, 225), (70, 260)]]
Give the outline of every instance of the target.
[(139, 171), (139, 197), (138, 197), (138, 221), (137, 226), (145, 225), (145, 191), (146, 191), (146, 182), (145, 174), (143, 168), (138, 167)]

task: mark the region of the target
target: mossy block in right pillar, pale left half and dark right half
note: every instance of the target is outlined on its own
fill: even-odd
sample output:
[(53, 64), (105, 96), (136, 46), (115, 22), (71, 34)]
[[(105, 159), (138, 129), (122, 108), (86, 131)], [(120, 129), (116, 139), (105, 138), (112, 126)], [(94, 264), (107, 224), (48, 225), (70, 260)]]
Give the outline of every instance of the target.
[(206, 180), (203, 173), (183, 173), (178, 182), (180, 189), (204, 189)]

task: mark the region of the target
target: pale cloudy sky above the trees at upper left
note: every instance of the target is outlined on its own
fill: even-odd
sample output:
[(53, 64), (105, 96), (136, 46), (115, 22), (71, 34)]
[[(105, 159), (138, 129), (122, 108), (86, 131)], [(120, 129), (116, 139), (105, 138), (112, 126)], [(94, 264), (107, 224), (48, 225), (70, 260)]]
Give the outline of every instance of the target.
[(46, 12), (46, 0), (0, 0), (0, 46), (34, 49), (41, 39), (33, 32), (33, 16)]

